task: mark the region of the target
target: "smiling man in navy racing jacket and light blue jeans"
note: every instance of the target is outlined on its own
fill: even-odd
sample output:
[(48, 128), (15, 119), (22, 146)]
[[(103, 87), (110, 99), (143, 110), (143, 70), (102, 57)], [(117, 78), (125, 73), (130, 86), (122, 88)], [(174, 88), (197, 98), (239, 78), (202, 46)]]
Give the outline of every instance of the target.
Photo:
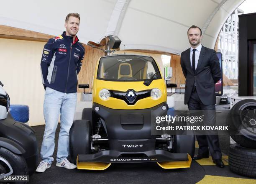
[(54, 160), (54, 136), (59, 113), (61, 129), (59, 133), (57, 164), (66, 169), (76, 165), (67, 160), (69, 150), (69, 130), (72, 126), (77, 104), (77, 74), (79, 73), (84, 47), (76, 36), (79, 30), (78, 13), (69, 13), (65, 20), (66, 31), (49, 39), (44, 46), (41, 59), (42, 82), (45, 88), (44, 119), (45, 130), (41, 146), (41, 159), (37, 172), (44, 172)]

